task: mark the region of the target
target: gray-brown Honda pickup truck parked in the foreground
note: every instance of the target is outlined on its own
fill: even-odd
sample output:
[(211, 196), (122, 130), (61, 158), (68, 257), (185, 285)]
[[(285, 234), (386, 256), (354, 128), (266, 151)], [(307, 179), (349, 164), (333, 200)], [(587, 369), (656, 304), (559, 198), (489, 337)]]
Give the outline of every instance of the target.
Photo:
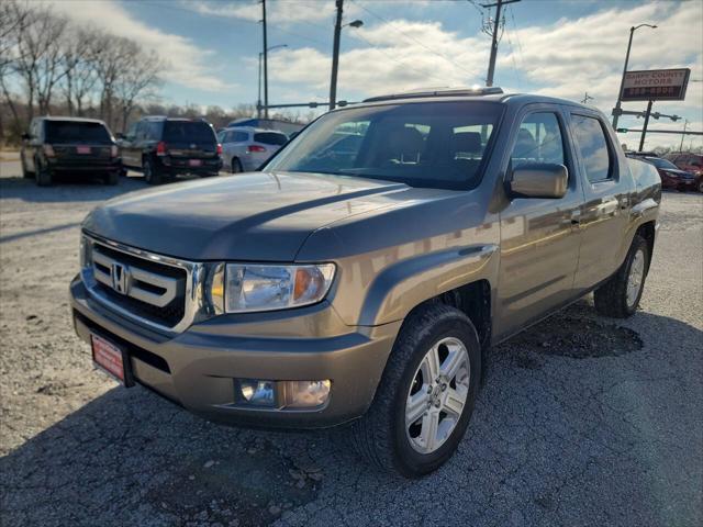
[(660, 187), (591, 108), (368, 99), (259, 171), (92, 211), (74, 323), (127, 386), (236, 425), (348, 423), (371, 462), (417, 476), (456, 450), (491, 346), (590, 291), (635, 312)]

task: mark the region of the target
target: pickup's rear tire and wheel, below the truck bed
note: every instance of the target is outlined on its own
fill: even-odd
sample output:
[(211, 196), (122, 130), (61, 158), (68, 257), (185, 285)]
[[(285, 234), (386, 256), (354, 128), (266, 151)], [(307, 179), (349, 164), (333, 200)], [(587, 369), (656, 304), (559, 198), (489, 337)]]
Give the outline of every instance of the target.
[(649, 258), (647, 240), (636, 234), (621, 268), (593, 292), (595, 309), (601, 315), (627, 318), (637, 311), (645, 290)]

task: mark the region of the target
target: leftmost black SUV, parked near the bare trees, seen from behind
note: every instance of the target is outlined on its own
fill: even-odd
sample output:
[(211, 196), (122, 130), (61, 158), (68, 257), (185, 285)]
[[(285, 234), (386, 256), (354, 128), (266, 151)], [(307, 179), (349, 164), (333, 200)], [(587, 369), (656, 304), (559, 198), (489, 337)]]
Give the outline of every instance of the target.
[(97, 119), (35, 117), (22, 136), (22, 175), (46, 187), (60, 172), (102, 178), (116, 184), (120, 156), (112, 133)]

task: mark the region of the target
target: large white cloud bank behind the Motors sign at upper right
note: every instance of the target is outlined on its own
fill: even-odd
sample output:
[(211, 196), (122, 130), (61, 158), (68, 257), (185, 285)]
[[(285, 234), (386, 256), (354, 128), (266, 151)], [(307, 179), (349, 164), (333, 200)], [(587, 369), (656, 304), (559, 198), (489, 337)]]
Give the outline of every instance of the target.
[[(657, 24), (658, 29), (635, 32), (628, 69), (690, 67), (692, 78), (701, 78), (703, 4), (698, 2), (647, 3), (525, 27), (517, 31), (516, 38), (513, 36), (513, 42), (517, 40), (522, 46), (514, 45), (513, 52), (501, 54), (499, 67), (510, 69), (517, 64), (542, 93), (582, 99), (588, 91), (594, 97), (593, 103), (610, 113), (620, 87), (629, 27), (639, 23)], [(679, 105), (700, 108), (701, 88), (700, 82), (692, 82), (687, 101)]]

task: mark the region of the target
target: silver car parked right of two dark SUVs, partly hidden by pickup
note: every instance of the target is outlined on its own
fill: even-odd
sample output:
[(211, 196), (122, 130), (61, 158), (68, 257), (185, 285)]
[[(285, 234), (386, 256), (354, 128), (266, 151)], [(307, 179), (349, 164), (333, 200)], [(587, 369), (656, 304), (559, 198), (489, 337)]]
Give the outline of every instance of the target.
[(288, 143), (288, 136), (282, 132), (248, 126), (225, 128), (217, 138), (222, 144), (224, 166), (233, 173), (256, 170)]

